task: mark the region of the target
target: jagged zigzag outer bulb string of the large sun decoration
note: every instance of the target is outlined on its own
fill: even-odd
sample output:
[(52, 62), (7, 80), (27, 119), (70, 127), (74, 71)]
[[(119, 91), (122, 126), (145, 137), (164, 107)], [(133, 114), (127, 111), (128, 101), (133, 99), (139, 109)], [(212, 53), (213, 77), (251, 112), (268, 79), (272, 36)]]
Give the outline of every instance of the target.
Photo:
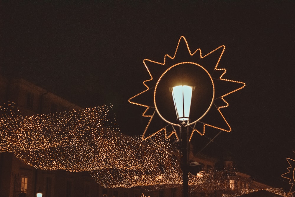
[[(145, 89), (144, 91), (142, 91), (142, 92), (138, 93), (137, 95), (131, 97), (131, 98), (128, 100), (128, 102), (130, 102), (131, 104), (139, 105), (139, 106), (142, 106), (142, 107), (146, 107), (146, 110), (142, 113), (142, 116), (143, 116), (143, 117), (149, 117), (149, 118), (150, 118), (150, 120), (148, 121), (148, 124), (147, 124), (147, 126), (146, 126), (146, 128), (145, 128), (145, 131), (144, 131), (144, 133), (142, 134), (142, 140), (146, 140), (146, 139), (148, 139), (148, 138), (150, 138), (150, 137), (156, 135), (156, 134), (159, 133), (160, 131), (164, 131), (164, 132), (165, 132), (165, 138), (166, 138), (166, 139), (170, 138), (173, 134), (175, 134), (176, 138), (179, 139), (179, 137), (178, 137), (178, 135), (177, 135), (177, 133), (176, 133), (176, 131), (175, 131), (175, 129), (174, 129), (173, 126), (172, 126), (172, 127), (173, 127), (173, 131), (170, 131), (171, 133), (170, 133), (169, 135), (168, 135), (168, 132), (167, 132), (167, 128), (166, 128), (166, 126), (165, 126), (165, 127), (163, 127), (163, 128), (160, 128), (158, 131), (152, 133), (151, 135), (149, 135), (149, 136), (145, 136), (145, 135), (146, 135), (146, 131), (148, 130), (148, 127), (149, 127), (149, 125), (150, 125), (150, 123), (151, 123), (151, 121), (152, 121), (152, 119), (153, 119), (153, 116), (154, 116), (155, 113), (156, 113), (156, 109), (154, 110), (154, 112), (153, 112), (152, 115), (147, 115), (146, 113), (147, 113), (151, 108), (155, 108), (155, 106), (149, 106), (149, 105), (144, 105), (144, 104), (141, 104), (141, 103), (138, 103), (138, 102), (133, 102), (132, 99), (135, 98), (135, 97), (137, 97), (137, 96), (139, 96), (139, 95), (142, 95), (143, 93), (147, 92), (147, 91), (150, 90), (150, 88), (151, 88), (151, 87), (148, 86), (147, 82), (152, 81), (152, 80), (153, 80), (153, 76), (152, 76), (150, 70), (148, 69), (148, 66), (147, 66), (146, 62), (148, 61), (148, 62), (151, 62), (151, 63), (155, 63), (155, 64), (159, 64), (159, 65), (165, 66), (165, 64), (166, 64), (166, 58), (167, 58), (167, 57), (170, 58), (170, 59), (172, 59), (172, 60), (176, 57), (176, 53), (177, 53), (177, 50), (178, 50), (179, 44), (181, 43), (182, 40), (186, 43), (186, 47), (187, 47), (187, 50), (188, 50), (190, 56), (194, 56), (195, 53), (197, 53), (197, 52), (199, 51), (199, 53), (200, 53), (200, 58), (201, 58), (201, 59), (202, 59), (202, 58), (205, 58), (205, 57), (207, 57), (207, 56), (209, 56), (210, 54), (214, 53), (214, 52), (217, 51), (218, 49), (222, 48), (222, 52), (220, 53), (220, 56), (219, 56), (219, 58), (218, 58), (218, 60), (217, 60), (217, 63), (216, 63), (216, 65), (215, 65), (215, 67), (214, 67), (214, 71), (223, 71), (222, 74), (219, 76), (219, 80), (242, 84), (242, 86), (240, 86), (239, 88), (234, 89), (234, 90), (232, 90), (232, 91), (230, 91), (230, 92), (227, 92), (226, 94), (222, 95), (221, 97), (218, 97), (218, 98), (221, 98), (221, 99), (222, 99), (222, 101), (225, 103), (225, 105), (222, 105), (222, 106), (217, 107), (217, 110), (218, 110), (218, 112), (220, 113), (220, 115), (222, 116), (224, 122), (227, 124), (228, 128), (227, 128), (227, 129), (226, 129), (226, 128), (219, 128), (218, 126), (214, 126), (214, 125), (210, 125), (210, 124), (207, 124), (207, 123), (203, 123), (203, 131), (201, 132), (201, 131), (198, 131), (197, 129), (193, 128), (193, 130), (192, 130), (192, 132), (191, 132), (191, 136), (190, 136), (190, 138), (189, 138), (189, 141), (191, 140), (191, 138), (192, 138), (192, 136), (193, 136), (193, 134), (194, 134), (195, 131), (197, 131), (200, 135), (204, 135), (204, 134), (205, 134), (205, 128), (206, 128), (206, 126), (209, 126), (209, 127), (212, 127), (212, 128), (216, 128), (216, 129), (219, 129), (219, 130), (221, 130), (221, 131), (226, 131), (226, 132), (230, 132), (230, 131), (232, 131), (232, 128), (230, 127), (229, 123), (228, 123), (227, 120), (225, 119), (225, 117), (224, 117), (224, 115), (222, 114), (222, 112), (221, 112), (220, 109), (221, 109), (221, 108), (226, 108), (226, 107), (229, 106), (229, 103), (224, 99), (225, 96), (230, 95), (231, 93), (236, 92), (236, 91), (238, 91), (238, 90), (244, 88), (244, 87), (246, 86), (246, 84), (245, 84), (244, 82), (234, 81), (234, 80), (230, 80), (230, 79), (224, 79), (224, 78), (222, 78), (222, 77), (224, 76), (224, 74), (226, 73), (226, 69), (224, 69), (224, 68), (217, 68), (217, 67), (218, 67), (218, 64), (219, 64), (219, 62), (220, 62), (220, 59), (221, 59), (221, 57), (222, 57), (222, 55), (223, 55), (223, 53), (224, 53), (224, 50), (225, 50), (225, 46), (224, 46), (224, 45), (221, 45), (221, 46), (219, 46), (218, 48), (214, 49), (213, 51), (209, 52), (208, 54), (202, 56), (202, 53), (201, 53), (201, 49), (200, 49), (200, 48), (197, 49), (196, 51), (194, 51), (193, 53), (191, 53), (191, 50), (190, 50), (189, 45), (188, 45), (188, 43), (187, 43), (187, 41), (186, 41), (186, 38), (185, 38), (184, 36), (181, 36), (181, 37), (179, 38), (179, 40), (178, 40), (178, 44), (177, 44), (177, 47), (176, 47), (176, 51), (175, 51), (173, 57), (171, 57), (171, 56), (169, 56), (168, 54), (166, 54), (166, 55), (164, 56), (164, 61), (163, 61), (163, 63), (161, 63), (161, 62), (157, 62), (157, 61), (153, 61), (153, 60), (150, 60), (150, 59), (144, 59), (144, 60), (143, 60), (143, 64), (145, 65), (145, 68), (147, 69), (147, 71), (148, 71), (148, 73), (149, 73), (149, 75), (150, 75), (150, 79), (143, 81), (143, 85), (144, 85), (147, 89)], [(196, 63), (194, 63), (194, 62), (182, 62), (182, 63), (196, 64)], [(171, 67), (172, 67), (172, 66), (171, 66)], [(170, 67), (170, 68), (171, 68), (171, 67)], [(214, 84), (213, 84), (213, 88), (214, 88)], [(214, 98), (214, 99), (217, 99), (217, 98)]]

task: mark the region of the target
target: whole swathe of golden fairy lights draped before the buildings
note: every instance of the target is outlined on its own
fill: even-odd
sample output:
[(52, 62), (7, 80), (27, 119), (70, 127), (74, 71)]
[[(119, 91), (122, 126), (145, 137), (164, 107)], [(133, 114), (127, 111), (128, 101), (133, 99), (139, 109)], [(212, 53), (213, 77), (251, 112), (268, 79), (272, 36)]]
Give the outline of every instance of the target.
[[(106, 188), (180, 187), (179, 155), (171, 139), (158, 133), (150, 138), (155, 145), (140, 136), (122, 135), (110, 109), (103, 105), (23, 117), (14, 103), (0, 106), (0, 153), (12, 152), (37, 169), (89, 171)], [(224, 179), (216, 179), (210, 170), (189, 174), (191, 191), (222, 184)]]

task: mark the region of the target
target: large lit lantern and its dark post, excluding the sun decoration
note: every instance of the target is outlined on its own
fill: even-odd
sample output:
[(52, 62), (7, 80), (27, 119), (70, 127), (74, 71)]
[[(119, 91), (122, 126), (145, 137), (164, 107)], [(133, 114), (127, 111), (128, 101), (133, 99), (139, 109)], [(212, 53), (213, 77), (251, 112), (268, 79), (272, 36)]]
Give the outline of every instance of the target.
[(183, 197), (189, 196), (188, 174), (189, 174), (189, 141), (188, 129), (189, 113), (191, 108), (191, 97), (194, 87), (179, 85), (170, 88), (173, 96), (177, 119), (180, 124), (181, 139), (181, 170), (182, 170), (182, 192)]

